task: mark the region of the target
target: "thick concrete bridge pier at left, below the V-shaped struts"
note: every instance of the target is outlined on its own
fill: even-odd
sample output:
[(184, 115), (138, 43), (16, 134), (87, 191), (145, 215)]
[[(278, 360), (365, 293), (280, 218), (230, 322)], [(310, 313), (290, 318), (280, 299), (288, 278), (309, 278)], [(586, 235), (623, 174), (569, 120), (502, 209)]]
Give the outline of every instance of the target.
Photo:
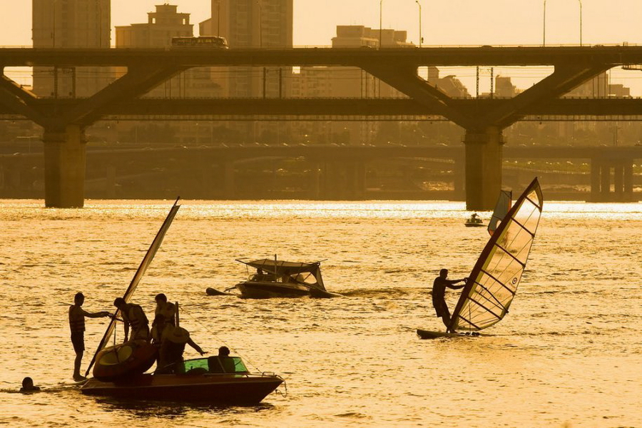
[(82, 126), (45, 128), (45, 206), (82, 208), (84, 205), (86, 139)]

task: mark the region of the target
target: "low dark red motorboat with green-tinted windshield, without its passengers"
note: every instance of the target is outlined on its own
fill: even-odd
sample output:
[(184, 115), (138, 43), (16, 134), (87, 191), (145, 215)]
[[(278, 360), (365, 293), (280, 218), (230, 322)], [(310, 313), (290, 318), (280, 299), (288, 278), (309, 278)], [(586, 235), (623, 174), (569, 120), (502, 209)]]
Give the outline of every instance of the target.
[(118, 399), (248, 405), (258, 404), (283, 382), (275, 374), (248, 372), (240, 357), (186, 360), (179, 367), (175, 374), (137, 374), (108, 382), (93, 377), (81, 392)]

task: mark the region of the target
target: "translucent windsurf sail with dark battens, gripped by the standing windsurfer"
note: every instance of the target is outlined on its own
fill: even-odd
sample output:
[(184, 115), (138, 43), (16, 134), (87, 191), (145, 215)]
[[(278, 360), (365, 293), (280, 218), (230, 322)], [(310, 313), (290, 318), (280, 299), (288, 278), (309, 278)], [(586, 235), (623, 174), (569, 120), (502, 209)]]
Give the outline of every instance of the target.
[(526, 268), (543, 203), (535, 178), (481, 252), (452, 314), (449, 331), (483, 330), (508, 313)]

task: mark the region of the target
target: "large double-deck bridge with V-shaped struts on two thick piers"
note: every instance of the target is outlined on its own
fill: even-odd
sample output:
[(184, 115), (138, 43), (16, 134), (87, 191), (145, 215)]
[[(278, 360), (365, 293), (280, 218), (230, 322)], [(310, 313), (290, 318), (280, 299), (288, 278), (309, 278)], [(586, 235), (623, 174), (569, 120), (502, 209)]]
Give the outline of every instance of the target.
[[(83, 205), (84, 130), (108, 116), (221, 115), (441, 116), (462, 126), (467, 207), (494, 205), (501, 187), (502, 130), (537, 116), (642, 116), (638, 99), (560, 99), (572, 88), (614, 66), (642, 63), (642, 47), (457, 47), (412, 49), (0, 49), (0, 67), (123, 66), (126, 74), (85, 99), (37, 98), (4, 74), (0, 114), (29, 118), (44, 128), (45, 203)], [(402, 100), (146, 100), (151, 88), (198, 66), (350, 66), (362, 68), (408, 99)], [(554, 66), (550, 76), (514, 98), (454, 99), (419, 77), (421, 66)], [(200, 110), (197, 109), (200, 108)], [(260, 110), (263, 108), (263, 110)], [(599, 167), (602, 168), (602, 167)], [(606, 169), (620, 165), (605, 165)], [(626, 165), (621, 165), (625, 170)], [(620, 174), (622, 180), (626, 173)], [(616, 176), (620, 176), (616, 174)], [(602, 175), (601, 175), (602, 176)], [(600, 183), (606, 178), (600, 178)], [(619, 178), (616, 181), (619, 183)]]

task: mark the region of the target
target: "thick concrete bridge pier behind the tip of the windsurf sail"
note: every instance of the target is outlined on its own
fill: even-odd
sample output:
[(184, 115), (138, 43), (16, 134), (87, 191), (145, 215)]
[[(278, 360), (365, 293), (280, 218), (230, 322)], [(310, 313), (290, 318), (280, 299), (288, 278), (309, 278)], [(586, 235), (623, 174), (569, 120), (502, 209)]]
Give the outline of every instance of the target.
[(466, 209), (493, 210), (501, 190), (501, 152), (504, 138), (501, 129), (488, 126), (467, 129), (466, 147)]

